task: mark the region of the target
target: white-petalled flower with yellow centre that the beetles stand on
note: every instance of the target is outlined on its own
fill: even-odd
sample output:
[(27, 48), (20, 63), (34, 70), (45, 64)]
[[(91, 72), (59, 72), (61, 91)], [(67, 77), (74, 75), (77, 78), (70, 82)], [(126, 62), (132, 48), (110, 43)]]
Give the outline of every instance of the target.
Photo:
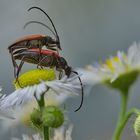
[[(64, 102), (68, 97), (78, 95), (80, 84), (75, 84), (77, 76), (64, 76), (61, 80), (55, 79), (53, 70), (31, 70), (19, 77), (15, 83), (16, 90), (10, 95), (3, 94), (0, 98), (0, 110), (18, 107), (52, 90), (58, 102)], [(20, 87), (21, 86), (21, 87)], [(47, 93), (46, 93), (47, 94)], [(49, 94), (49, 93), (48, 93)], [(61, 95), (61, 96), (60, 96)]]

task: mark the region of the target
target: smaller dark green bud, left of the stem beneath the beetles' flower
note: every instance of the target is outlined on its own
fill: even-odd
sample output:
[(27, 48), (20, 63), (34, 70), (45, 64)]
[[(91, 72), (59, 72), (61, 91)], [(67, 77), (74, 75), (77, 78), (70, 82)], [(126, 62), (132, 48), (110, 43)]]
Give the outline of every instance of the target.
[(32, 125), (38, 129), (42, 129), (42, 120), (41, 120), (41, 111), (34, 109), (34, 111), (32, 112), (30, 119), (32, 122)]

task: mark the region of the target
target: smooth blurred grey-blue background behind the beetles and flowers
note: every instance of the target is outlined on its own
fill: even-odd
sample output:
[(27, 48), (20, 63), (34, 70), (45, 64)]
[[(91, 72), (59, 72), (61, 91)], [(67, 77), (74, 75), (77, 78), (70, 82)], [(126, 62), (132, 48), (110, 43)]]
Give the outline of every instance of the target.
[[(25, 35), (49, 34), (36, 24), (23, 29), (29, 20), (49, 24), (41, 12), (27, 12), (31, 6), (39, 6), (51, 16), (60, 36), (61, 55), (74, 68), (104, 60), (118, 50), (126, 51), (134, 41), (140, 41), (139, 0), (0, 0), (0, 84), (7, 94), (14, 91), (8, 45)], [(30, 67), (33, 68), (24, 66), (23, 71)], [(129, 107), (140, 108), (139, 84), (140, 79), (131, 88)], [(79, 102), (80, 98), (67, 102), (69, 117), (74, 123), (73, 140), (110, 140), (120, 105), (118, 91), (95, 86), (85, 98), (82, 109), (74, 113)], [(136, 140), (133, 122), (132, 117), (122, 140)], [(0, 129), (0, 140), (20, 135), (18, 128), (7, 132)]]

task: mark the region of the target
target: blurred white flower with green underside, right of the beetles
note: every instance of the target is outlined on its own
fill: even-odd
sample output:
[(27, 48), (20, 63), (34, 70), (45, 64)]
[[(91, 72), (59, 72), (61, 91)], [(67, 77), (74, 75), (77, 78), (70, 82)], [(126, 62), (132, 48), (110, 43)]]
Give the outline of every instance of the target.
[(105, 83), (120, 90), (128, 89), (140, 72), (140, 44), (133, 43), (127, 54), (118, 51), (117, 56), (104, 63), (88, 65), (78, 72), (83, 74), (81, 79), (86, 85)]

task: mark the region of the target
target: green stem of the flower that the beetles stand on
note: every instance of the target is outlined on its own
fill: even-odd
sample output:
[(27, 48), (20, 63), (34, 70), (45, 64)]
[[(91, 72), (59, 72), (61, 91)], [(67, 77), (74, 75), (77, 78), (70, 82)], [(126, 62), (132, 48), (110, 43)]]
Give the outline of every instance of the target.
[[(37, 102), (41, 110), (41, 108), (45, 106), (44, 94), (41, 95), (41, 99), (37, 100)], [(44, 140), (49, 140), (49, 127), (46, 126), (43, 127), (43, 135), (44, 135)]]

